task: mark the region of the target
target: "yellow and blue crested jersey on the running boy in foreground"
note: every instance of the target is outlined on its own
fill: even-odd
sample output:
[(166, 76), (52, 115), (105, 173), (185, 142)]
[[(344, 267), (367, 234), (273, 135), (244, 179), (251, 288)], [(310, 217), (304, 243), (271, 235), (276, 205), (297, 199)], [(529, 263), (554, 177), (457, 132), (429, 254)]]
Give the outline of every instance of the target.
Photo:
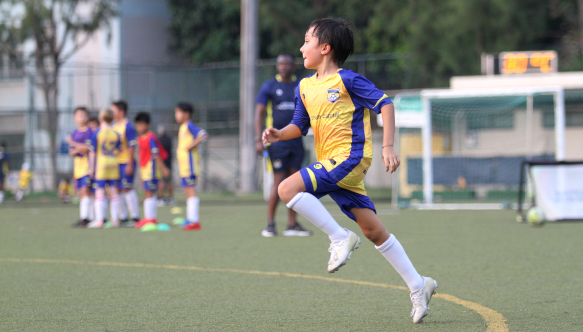
[(368, 110), (380, 114), (391, 99), (365, 77), (339, 69), (323, 79), (311, 75), (301, 80), (295, 103), (291, 123), (303, 135), (312, 127), (319, 164), (340, 188), (366, 195), (363, 178), (373, 159)]

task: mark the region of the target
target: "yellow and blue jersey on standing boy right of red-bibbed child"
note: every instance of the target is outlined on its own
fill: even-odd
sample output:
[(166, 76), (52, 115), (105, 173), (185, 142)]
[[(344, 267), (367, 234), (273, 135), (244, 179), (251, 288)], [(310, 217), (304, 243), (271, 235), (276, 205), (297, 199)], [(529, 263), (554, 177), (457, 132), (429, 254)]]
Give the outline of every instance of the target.
[(180, 125), (178, 130), (178, 147), (176, 149), (176, 158), (178, 159), (178, 169), (180, 170), (181, 178), (188, 178), (190, 176), (198, 176), (198, 150), (194, 147), (188, 150), (188, 146), (192, 141), (199, 137), (205, 137), (206, 131), (199, 126), (188, 121)]

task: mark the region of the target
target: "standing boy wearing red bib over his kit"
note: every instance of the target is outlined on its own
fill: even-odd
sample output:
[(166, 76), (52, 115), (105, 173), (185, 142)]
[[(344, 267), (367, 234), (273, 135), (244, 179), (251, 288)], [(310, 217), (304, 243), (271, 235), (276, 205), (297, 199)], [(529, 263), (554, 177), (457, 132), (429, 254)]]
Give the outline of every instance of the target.
[(138, 151), (139, 151), (139, 165), (140, 175), (144, 182), (144, 218), (134, 225), (140, 228), (145, 224), (153, 222), (156, 224), (156, 217), (158, 213), (158, 198), (156, 191), (158, 190), (158, 181), (170, 176), (170, 171), (164, 165), (164, 159), (168, 157), (166, 149), (160, 144), (160, 141), (150, 131), (150, 114), (147, 112), (139, 112), (136, 116), (136, 130), (139, 133), (138, 137)]

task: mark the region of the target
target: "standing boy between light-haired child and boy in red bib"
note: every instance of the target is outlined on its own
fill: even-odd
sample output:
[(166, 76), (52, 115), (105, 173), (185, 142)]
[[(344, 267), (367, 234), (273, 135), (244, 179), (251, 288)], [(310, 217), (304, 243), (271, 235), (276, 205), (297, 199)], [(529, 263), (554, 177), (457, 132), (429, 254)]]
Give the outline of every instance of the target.
[[(126, 117), (128, 103), (116, 101), (111, 104), (115, 122), (113, 129), (120, 134), (121, 148), (118, 156), (120, 163), (120, 200), (121, 220), (123, 226), (131, 227), (140, 218), (138, 194), (134, 190), (134, 147), (136, 146), (136, 132)], [(128, 221), (129, 216), (132, 221)]]

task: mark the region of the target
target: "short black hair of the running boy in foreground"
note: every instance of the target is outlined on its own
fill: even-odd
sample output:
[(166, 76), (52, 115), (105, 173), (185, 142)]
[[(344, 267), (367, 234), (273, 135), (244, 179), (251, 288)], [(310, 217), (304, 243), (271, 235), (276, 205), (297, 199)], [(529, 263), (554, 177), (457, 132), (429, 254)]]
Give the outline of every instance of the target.
[(332, 61), (341, 66), (354, 52), (354, 36), (350, 26), (354, 27), (354, 24), (344, 17), (317, 19), (310, 23), (308, 31), (314, 27), (312, 36), (318, 38), (318, 45), (330, 45), (334, 51)]

